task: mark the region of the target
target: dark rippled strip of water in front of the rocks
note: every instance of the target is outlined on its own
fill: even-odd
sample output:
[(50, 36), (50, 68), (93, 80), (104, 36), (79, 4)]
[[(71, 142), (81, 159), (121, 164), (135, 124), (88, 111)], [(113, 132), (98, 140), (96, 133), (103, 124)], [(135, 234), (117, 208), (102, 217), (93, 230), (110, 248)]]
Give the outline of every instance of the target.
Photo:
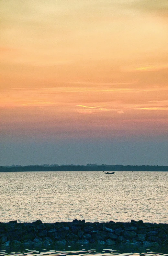
[(160, 256), (165, 255), (168, 256), (168, 248), (136, 248), (136, 247), (123, 247), (121, 246), (119, 249), (109, 249), (104, 247), (96, 247), (94, 249), (90, 248), (83, 248), (82, 246), (80, 248), (77, 248), (74, 250), (74, 248), (71, 248), (71, 246), (68, 246), (65, 249), (19, 249), (19, 250), (11, 250), (11, 249), (4, 249), (0, 250), (0, 256), (4, 255), (11, 255), (11, 256), (18, 256), (18, 255), (28, 255), (28, 256), (61, 256), (61, 255), (70, 255), (70, 256)]

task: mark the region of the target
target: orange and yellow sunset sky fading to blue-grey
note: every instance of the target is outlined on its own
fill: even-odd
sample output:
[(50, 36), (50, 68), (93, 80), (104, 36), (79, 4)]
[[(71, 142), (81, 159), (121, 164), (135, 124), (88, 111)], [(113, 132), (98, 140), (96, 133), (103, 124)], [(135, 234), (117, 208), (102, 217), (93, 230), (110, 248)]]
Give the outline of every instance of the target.
[(168, 165), (167, 0), (1, 0), (0, 165)]

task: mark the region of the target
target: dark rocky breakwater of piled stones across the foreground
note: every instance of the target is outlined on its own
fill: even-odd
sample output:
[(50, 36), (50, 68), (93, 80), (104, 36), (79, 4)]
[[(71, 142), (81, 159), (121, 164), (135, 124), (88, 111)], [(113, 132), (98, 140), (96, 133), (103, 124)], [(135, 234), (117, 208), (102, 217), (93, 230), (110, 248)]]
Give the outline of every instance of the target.
[(131, 222), (73, 222), (32, 223), (0, 222), (0, 245), (21, 244), (168, 244), (168, 224)]

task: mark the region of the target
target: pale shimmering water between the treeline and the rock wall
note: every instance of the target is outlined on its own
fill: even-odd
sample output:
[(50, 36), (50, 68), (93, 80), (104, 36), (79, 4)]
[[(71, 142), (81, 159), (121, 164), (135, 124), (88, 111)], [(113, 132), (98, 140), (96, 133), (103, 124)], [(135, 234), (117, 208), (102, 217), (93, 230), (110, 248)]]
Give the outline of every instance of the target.
[(167, 210), (168, 172), (0, 172), (1, 222), (165, 223)]

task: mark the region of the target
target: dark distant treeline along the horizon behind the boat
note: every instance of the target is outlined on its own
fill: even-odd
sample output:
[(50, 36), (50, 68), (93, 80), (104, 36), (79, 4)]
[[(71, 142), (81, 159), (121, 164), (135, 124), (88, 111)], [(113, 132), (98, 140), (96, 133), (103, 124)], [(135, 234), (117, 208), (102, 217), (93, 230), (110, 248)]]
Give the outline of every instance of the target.
[(0, 166), (0, 172), (13, 171), (168, 171), (168, 166), (152, 165), (12, 165)]

